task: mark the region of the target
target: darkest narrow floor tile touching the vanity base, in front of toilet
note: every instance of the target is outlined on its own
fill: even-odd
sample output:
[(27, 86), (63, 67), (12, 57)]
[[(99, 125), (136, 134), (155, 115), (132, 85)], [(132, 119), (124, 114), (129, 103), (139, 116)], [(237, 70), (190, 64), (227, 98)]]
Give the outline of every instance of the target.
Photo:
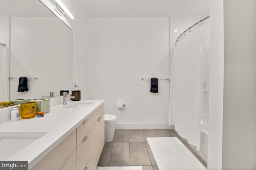
[(113, 143), (105, 143), (102, 153), (100, 155), (100, 160), (98, 166), (108, 166), (110, 155), (112, 152)]

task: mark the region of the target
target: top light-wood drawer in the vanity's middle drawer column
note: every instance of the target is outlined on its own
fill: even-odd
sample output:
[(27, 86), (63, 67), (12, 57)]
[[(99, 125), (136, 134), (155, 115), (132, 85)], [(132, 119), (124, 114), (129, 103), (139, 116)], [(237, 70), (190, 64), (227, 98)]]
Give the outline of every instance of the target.
[(78, 146), (80, 144), (80, 142), (84, 139), (84, 137), (86, 136), (86, 134), (90, 131), (90, 117), (88, 117), (87, 119), (85, 119), (83, 121), (83, 123), (81, 123), (78, 127), (77, 127), (77, 144), (76, 146)]

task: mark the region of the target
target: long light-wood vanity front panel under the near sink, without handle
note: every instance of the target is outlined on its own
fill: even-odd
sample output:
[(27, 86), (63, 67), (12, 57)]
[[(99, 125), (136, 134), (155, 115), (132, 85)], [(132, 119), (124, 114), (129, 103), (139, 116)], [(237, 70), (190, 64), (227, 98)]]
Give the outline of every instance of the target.
[(76, 129), (49, 152), (32, 170), (59, 170), (76, 149)]

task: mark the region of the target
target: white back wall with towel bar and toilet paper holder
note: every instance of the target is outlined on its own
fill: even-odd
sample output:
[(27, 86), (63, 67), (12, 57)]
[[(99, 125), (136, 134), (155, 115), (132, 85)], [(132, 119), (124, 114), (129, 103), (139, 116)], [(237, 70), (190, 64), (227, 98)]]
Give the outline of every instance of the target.
[(106, 100), (118, 129), (168, 128), (169, 81), (153, 94), (142, 80), (169, 78), (168, 32), (168, 18), (90, 18), (89, 97)]

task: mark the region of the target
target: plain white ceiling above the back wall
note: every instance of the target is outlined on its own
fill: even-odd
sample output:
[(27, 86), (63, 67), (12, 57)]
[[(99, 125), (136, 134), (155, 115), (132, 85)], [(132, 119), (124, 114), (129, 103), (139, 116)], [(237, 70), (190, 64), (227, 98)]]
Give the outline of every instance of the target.
[(79, 0), (89, 17), (204, 16), (209, 0)]

